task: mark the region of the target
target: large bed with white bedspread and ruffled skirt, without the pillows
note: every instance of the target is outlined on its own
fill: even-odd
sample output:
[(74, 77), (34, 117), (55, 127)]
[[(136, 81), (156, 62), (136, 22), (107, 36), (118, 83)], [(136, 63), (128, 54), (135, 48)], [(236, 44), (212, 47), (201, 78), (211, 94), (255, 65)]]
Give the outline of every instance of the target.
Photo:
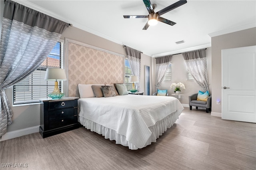
[(174, 97), (129, 94), (80, 98), (78, 109), (85, 128), (136, 150), (156, 142), (184, 108)]

